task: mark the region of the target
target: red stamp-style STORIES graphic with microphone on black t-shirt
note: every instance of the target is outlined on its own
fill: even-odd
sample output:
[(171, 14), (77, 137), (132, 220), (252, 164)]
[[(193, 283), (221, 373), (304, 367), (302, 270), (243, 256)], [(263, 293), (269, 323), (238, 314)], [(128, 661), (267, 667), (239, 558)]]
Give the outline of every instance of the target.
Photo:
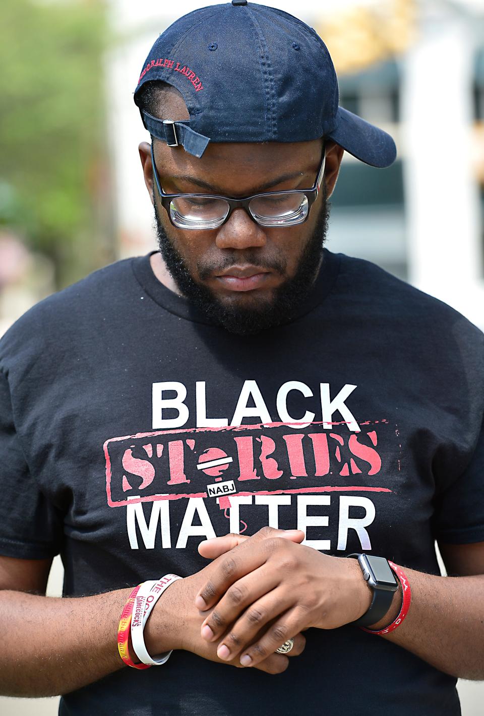
[[(236, 427), (159, 430), (113, 437), (104, 445), (110, 507), (216, 498), (221, 509), (230, 495), (280, 495), (331, 491), (391, 492), (379, 484), (382, 457), (377, 430), (387, 421), (360, 424), (343, 435), (274, 422)], [(378, 427), (377, 427), (378, 425)]]

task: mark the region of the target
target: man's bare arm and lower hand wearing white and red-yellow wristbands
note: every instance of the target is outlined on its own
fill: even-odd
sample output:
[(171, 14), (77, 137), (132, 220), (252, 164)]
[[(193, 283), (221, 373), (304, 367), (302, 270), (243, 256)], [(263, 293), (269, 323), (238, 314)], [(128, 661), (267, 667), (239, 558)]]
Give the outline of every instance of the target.
[[(47, 597), (50, 565), (48, 559), (0, 556), (1, 695), (64, 694), (127, 668), (117, 651), (117, 628), (132, 587), (76, 599)], [(185, 649), (220, 662), (216, 644), (200, 637), (206, 614), (194, 606), (195, 595), (213, 566), (176, 581), (165, 591), (145, 627), (150, 654)], [(304, 642), (299, 634), (294, 656), (303, 651)], [(240, 666), (238, 661), (231, 665)], [(279, 674), (288, 665), (287, 657), (270, 654), (259, 668)]]

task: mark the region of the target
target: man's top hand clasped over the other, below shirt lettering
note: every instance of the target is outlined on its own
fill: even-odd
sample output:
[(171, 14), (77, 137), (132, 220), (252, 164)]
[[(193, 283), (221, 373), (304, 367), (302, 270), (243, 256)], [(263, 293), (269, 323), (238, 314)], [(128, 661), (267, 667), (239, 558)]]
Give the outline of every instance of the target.
[(206, 642), (219, 642), (219, 659), (240, 655), (242, 666), (253, 667), (290, 638), (300, 654), (300, 632), (335, 629), (367, 611), (371, 592), (357, 561), (316, 551), (303, 539), (298, 530), (263, 528), (253, 537), (231, 534), (200, 543), (202, 556), (218, 558), (195, 606), (211, 609), (200, 633)]

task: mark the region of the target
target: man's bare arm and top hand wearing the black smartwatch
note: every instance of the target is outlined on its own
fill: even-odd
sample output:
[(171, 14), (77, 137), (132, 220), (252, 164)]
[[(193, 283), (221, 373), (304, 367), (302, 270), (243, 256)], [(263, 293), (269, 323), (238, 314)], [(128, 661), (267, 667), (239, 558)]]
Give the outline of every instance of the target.
[[(372, 598), (354, 560), (283, 542), (270, 529), (262, 533), (233, 548), (225, 566), (220, 564), (198, 595), (198, 604), (202, 605), (201, 597), (212, 609), (203, 627), (210, 627), (213, 635), (205, 630), (205, 638), (219, 649), (225, 645), (228, 658), (248, 655), (251, 666), (302, 629), (335, 629), (358, 619)], [(200, 551), (216, 556), (230, 549), (229, 540), (202, 543)], [(451, 572), (465, 576), (434, 576), (405, 568), (412, 588), (407, 619), (391, 634), (368, 638), (388, 639), (453, 676), (484, 679), (484, 543), (442, 546), (442, 554)], [(387, 626), (401, 602), (399, 589), (387, 617), (371, 628)], [(259, 628), (269, 622), (271, 627), (247, 647), (254, 620)]]

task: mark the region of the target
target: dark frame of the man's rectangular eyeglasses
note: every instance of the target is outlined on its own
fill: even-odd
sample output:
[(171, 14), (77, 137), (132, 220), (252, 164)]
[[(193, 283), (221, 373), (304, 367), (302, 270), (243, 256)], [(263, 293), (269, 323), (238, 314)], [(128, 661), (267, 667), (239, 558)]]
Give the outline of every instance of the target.
[(247, 196), (241, 199), (235, 199), (228, 196), (223, 196), (221, 194), (203, 194), (198, 192), (191, 192), (191, 193), (178, 193), (178, 194), (165, 194), (163, 189), (161, 188), (160, 183), (160, 177), (158, 175), (158, 169), (156, 168), (155, 163), (155, 155), (153, 153), (153, 141), (151, 142), (151, 164), (153, 166), (153, 175), (155, 177), (155, 183), (156, 188), (158, 189), (158, 194), (160, 195), (161, 203), (163, 205), (163, 208), (165, 209), (166, 213), (168, 214), (168, 218), (170, 219), (170, 223), (175, 226), (175, 228), (180, 228), (180, 226), (177, 226), (171, 217), (170, 213), (170, 203), (173, 201), (173, 199), (178, 198), (190, 198), (194, 196), (198, 196), (202, 199), (222, 199), (223, 201), (226, 201), (228, 203), (228, 213), (226, 218), (222, 221), (222, 223), (219, 226), (216, 226), (216, 228), (206, 227), (206, 226), (185, 226), (183, 227), (183, 230), (187, 231), (216, 231), (223, 224), (225, 224), (229, 218), (231, 218), (231, 215), (234, 211), (238, 208), (243, 208), (248, 213), (248, 216), (252, 219), (252, 221), (255, 221), (258, 226), (263, 226), (264, 228), (273, 228), (268, 227), (264, 224), (259, 223), (256, 218), (254, 218), (251, 214), (251, 211), (249, 210), (248, 206), (251, 203), (253, 199), (259, 198), (259, 197), (266, 197), (266, 196), (276, 196), (281, 194), (304, 194), (306, 196), (306, 199), (308, 200), (308, 212), (306, 216), (304, 217), (303, 221), (299, 221), (298, 223), (290, 224), (288, 223), (286, 226), (284, 224), (281, 224), (280, 226), (276, 226), (275, 228), (291, 228), (291, 226), (299, 226), (300, 224), (304, 223), (309, 219), (309, 213), (311, 212), (311, 206), (314, 204), (316, 199), (318, 198), (319, 191), (321, 190), (321, 184), (323, 183), (324, 178), (324, 168), (326, 165), (326, 144), (323, 145), (323, 158), (321, 159), (321, 165), (319, 167), (319, 171), (316, 175), (316, 182), (314, 183), (313, 187), (311, 189), (285, 189), (282, 191), (266, 191), (261, 192), (258, 194), (253, 194), (251, 196)]

